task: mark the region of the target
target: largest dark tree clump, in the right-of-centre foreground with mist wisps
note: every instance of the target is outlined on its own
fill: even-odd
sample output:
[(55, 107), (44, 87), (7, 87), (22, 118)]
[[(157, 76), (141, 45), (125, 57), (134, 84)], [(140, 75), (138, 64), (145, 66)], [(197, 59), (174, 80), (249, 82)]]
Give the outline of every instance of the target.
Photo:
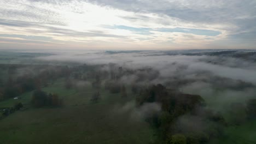
[[(144, 103), (161, 104), (161, 112), (146, 119), (159, 131), (156, 143), (206, 143), (213, 137), (221, 136), (226, 124), (222, 115), (205, 108), (205, 101), (200, 95), (183, 94), (160, 84), (149, 86), (137, 95), (136, 105)], [(207, 123), (205, 130), (184, 130), (182, 124), (177, 124), (182, 116), (200, 118), (200, 121)]]

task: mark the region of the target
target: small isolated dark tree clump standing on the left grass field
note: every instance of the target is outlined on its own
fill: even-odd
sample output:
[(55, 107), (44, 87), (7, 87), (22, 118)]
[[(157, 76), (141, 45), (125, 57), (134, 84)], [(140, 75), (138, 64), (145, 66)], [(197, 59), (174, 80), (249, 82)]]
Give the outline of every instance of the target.
[(34, 107), (62, 106), (63, 99), (61, 99), (58, 94), (47, 94), (46, 92), (37, 89), (32, 94), (31, 104)]

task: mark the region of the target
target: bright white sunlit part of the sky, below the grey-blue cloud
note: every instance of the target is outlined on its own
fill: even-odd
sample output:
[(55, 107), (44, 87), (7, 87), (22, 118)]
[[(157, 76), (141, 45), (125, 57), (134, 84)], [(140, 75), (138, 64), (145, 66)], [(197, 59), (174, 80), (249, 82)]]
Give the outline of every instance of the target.
[[(189, 22), (178, 16), (90, 1), (3, 0), (0, 4), (2, 49), (18, 48), (17, 44), (45, 48), (203, 49), (228, 40), (237, 27), (230, 23)], [(188, 4), (183, 6), (193, 6)]]

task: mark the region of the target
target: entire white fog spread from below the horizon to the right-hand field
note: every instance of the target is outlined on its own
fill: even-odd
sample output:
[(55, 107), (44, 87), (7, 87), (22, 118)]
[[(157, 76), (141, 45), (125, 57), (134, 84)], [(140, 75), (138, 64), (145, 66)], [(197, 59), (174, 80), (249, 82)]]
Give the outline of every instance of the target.
[[(166, 85), (169, 88), (178, 87), (179, 91), (184, 93), (199, 94), (205, 99), (212, 99), (209, 106), (217, 111), (223, 111), (224, 106), (231, 103), (244, 103), (254, 96), (256, 92), (254, 86), (256, 85), (256, 64), (251, 59), (234, 58), (230, 55), (183, 55), (187, 52), (81, 51), (79, 53), (55, 53), (56, 55), (38, 57), (37, 59), (51, 62), (71, 61), (91, 65), (114, 63), (118, 67), (133, 70), (153, 68), (159, 74), (153, 79), (144, 79), (137, 82), (149, 85), (185, 81), (179, 86), (177, 86), (177, 83), (175, 83), (176, 85)], [(191, 50), (189, 52), (193, 53)], [(109, 71), (110, 69), (108, 65), (104, 65), (101, 70)], [(119, 81), (135, 83), (139, 78), (138, 73), (140, 72), (135, 75), (125, 75)]]

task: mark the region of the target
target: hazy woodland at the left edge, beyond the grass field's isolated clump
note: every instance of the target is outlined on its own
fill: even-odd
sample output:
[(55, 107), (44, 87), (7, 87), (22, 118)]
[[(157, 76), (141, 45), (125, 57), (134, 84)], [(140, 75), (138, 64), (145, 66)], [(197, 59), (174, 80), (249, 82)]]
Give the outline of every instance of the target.
[[(53, 82), (59, 77), (67, 77), (71, 73), (71, 70), (66, 66), (0, 64), (0, 67), (8, 71), (8, 80), (0, 85), (0, 100), (18, 97), (22, 93), (45, 87), (49, 82)], [(36, 74), (31, 71), (18, 74), (19, 68), (31, 69)]]

